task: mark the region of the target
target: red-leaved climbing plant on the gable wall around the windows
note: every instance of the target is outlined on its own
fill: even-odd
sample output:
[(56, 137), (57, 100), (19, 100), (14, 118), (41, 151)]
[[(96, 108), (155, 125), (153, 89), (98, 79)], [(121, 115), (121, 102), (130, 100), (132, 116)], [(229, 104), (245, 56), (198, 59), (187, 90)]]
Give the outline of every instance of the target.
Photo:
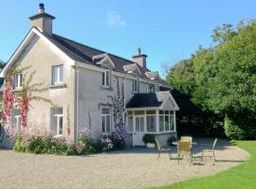
[[(51, 100), (38, 95), (47, 91), (48, 87), (45, 86), (44, 82), (33, 82), (33, 77), (36, 72), (29, 72), (29, 68), (30, 66), (11, 68), (5, 77), (2, 120), (6, 127), (10, 127), (11, 125), (11, 112), (13, 109), (17, 109), (21, 113), (22, 128), (24, 129), (27, 127), (27, 113), (29, 106), (31, 106), (31, 101), (43, 101), (54, 106)], [(15, 73), (22, 74), (21, 88), (17, 90), (13, 89), (12, 77)]]

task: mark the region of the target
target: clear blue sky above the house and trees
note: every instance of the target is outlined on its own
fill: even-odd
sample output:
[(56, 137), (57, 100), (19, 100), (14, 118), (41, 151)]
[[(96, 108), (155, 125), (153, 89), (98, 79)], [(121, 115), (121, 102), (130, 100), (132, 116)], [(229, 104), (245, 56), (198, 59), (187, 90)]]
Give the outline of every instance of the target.
[(148, 67), (189, 58), (208, 46), (215, 26), (256, 17), (252, 0), (5, 0), (0, 2), (0, 60), (9, 60), (29, 30), (28, 16), (45, 3), (55, 33), (131, 59), (137, 47)]

